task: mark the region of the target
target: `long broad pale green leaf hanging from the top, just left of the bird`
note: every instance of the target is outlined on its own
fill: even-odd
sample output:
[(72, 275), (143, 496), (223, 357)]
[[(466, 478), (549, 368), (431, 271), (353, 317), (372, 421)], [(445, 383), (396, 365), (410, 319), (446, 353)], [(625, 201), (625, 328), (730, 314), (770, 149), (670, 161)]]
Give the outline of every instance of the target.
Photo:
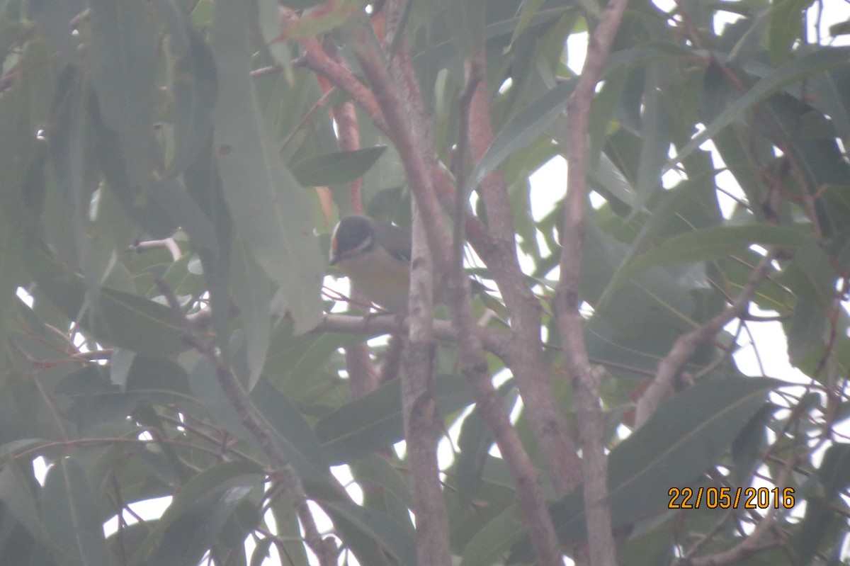
[(248, 73), (247, 0), (216, 3), (212, 54), (218, 69), (215, 151), (236, 234), (286, 294), (298, 333), (319, 322), (324, 262), (313, 207), (269, 143)]

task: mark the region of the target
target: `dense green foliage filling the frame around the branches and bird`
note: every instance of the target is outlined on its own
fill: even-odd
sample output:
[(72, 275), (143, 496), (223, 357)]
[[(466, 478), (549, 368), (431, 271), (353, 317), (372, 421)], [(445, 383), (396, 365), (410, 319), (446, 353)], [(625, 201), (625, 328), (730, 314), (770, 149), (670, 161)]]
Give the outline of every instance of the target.
[[(565, 155), (579, 77), (564, 45), (604, 12), (592, 1), (281, 4), (299, 12), (274, 0), (0, 2), (0, 563), (314, 563), (304, 496), (341, 563), (416, 563), (417, 470), (391, 450), (411, 433), (405, 386), (353, 395), (342, 354), (398, 324), (323, 318), (343, 301), (320, 294), (337, 218), (362, 202), (411, 223), (398, 131), (413, 122), (383, 112), (365, 55), (376, 46), (395, 81), (404, 65), (416, 79), (429, 126), (419, 142), (433, 141), (417, 148), (422, 161), (438, 161), (435, 179), (466, 179), (485, 230), (495, 214), (481, 183), (503, 179), (542, 313), (531, 340), (545, 338), (548, 375), (536, 378), (570, 441), (587, 442), (553, 314), (564, 183), (538, 190), (530, 174)], [(584, 347), (605, 370), (598, 440), (623, 564), (847, 560), (850, 48), (832, 44), (846, 25), (809, 30), (829, 5), (633, 1), (604, 66), (579, 289)], [(471, 62), (484, 63), (490, 125), (473, 121), (467, 139)], [(532, 200), (549, 208), (532, 214)], [(518, 392), (519, 355), (496, 347), (512, 338), (485, 305), (501, 290), (497, 310), (517, 334), (520, 307), (476, 252), (483, 267), (469, 271), (491, 296), (472, 307), (501, 379), (491, 395), (506, 414), (524, 401), (513, 429), (539, 473), (544, 521), (581, 557), (584, 495), (559, 487), (538, 407)], [(680, 338), (718, 320), (636, 425)], [(493, 450), (504, 431), (443, 339), (456, 321), (443, 322), (428, 393), (450, 452), (438, 528), (455, 563), (535, 563), (516, 468)], [(802, 385), (745, 375), (732, 357), (777, 322)], [(371, 343), (376, 367), (396, 348)], [(331, 473), (340, 465), (351, 484)], [(751, 487), (769, 509), (744, 508)], [(743, 495), (724, 510), (711, 493)], [(140, 503), (165, 496), (164, 511), (137, 520)], [(672, 508), (683, 502), (696, 508)]]

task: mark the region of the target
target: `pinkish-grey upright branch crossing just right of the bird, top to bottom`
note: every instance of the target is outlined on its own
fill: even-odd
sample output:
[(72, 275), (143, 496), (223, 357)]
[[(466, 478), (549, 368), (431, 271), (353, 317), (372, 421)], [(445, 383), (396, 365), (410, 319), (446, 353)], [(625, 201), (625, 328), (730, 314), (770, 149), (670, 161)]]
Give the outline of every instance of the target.
[(420, 566), (450, 563), (448, 518), (439, 484), (437, 440), (439, 427), (432, 382), (436, 348), (433, 342), (433, 265), (445, 273), (446, 246), (442, 217), (433, 198), (422, 147), (427, 132), (411, 120), (409, 101), (418, 98), (400, 88), (384, 67), (367, 22), (352, 23), (352, 47), (368, 79), (377, 104), (386, 118), (386, 133), (393, 140), (405, 167), (414, 199), (411, 201), (413, 240), (411, 287), (408, 306), (408, 343), (403, 354), (402, 410), (408, 461), (411, 465), (413, 512), (416, 515), (416, 555)]

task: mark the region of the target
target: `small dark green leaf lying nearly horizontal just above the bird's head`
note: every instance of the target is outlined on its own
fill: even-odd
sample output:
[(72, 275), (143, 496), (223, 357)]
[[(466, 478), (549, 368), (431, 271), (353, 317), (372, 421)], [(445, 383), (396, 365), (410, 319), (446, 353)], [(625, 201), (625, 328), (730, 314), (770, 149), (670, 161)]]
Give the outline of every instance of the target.
[(386, 146), (378, 145), (363, 150), (309, 156), (292, 163), (290, 168), (298, 183), (305, 187), (350, 183), (369, 171), (386, 150)]

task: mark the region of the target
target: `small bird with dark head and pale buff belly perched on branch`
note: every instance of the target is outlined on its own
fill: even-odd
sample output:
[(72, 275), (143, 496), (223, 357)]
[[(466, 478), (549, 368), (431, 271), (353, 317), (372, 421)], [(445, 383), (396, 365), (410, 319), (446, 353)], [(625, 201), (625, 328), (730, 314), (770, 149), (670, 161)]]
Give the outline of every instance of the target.
[(411, 233), (360, 215), (341, 218), (331, 235), (331, 265), (354, 287), (391, 313), (407, 312), (411, 286)]

